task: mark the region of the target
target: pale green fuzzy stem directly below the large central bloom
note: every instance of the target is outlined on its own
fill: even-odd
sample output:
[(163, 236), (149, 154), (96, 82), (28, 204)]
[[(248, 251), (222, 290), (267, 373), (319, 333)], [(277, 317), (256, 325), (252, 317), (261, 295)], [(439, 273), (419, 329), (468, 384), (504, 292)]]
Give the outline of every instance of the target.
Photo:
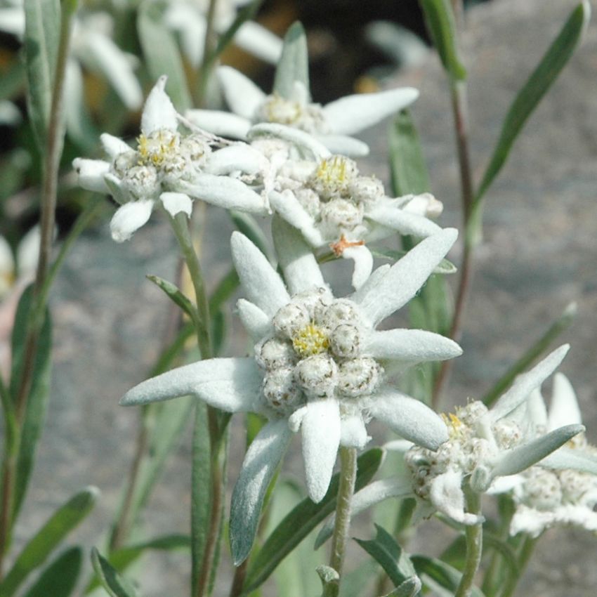
[[(350, 503), (355, 492), (355, 479), (357, 477), (357, 451), (355, 448), (340, 448), (340, 485), (336, 499), (336, 524), (332, 537), (332, 555), (329, 565), (334, 568), (342, 579), (342, 566), (344, 553), (348, 543), (350, 530)], [(325, 596), (324, 596), (325, 597)]]

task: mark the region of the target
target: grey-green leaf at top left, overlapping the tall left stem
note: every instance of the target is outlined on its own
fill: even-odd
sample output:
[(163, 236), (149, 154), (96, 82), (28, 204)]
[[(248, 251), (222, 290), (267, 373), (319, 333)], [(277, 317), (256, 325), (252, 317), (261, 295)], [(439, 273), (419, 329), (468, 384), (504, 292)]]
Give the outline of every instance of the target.
[(46, 146), (60, 40), (60, 1), (25, 0), (27, 108), (40, 150)]

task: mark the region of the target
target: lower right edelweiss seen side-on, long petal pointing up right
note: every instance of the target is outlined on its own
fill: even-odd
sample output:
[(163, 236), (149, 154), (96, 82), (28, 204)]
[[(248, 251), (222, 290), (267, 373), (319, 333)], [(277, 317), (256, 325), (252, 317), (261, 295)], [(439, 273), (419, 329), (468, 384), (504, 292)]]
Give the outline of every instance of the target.
[[(436, 452), (414, 446), (405, 454), (409, 477), (389, 478), (371, 483), (353, 499), (353, 513), (389, 497), (413, 495), (425, 514), (438, 510), (453, 520), (473, 525), (482, 517), (465, 512), (463, 485), (469, 483), (478, 493), (500, 493), (520, 483), (516, 473), (542, 461), (551, 462), (560, 454), (560, 448), (584, 427), (577, 423), (556, 427), (545, 433), (527, 433), (529, 420), (520, 421), (519, 407), (530, 394), (541, 386), (560, 365), (568, 345), (560, 346), (533, 369), (516, 378), (491, 409), (483, 402), (470, 402), (459, 407), (456, 414), (445, 416), (450, 439)], [(518, 412), (517, 412), (518, 411)], [(552, 452), (555, 454), (551, 454)], [(551, 456), (548, 457), (548, 455)], [(548, 457), (548, 458), (546, 458)], [(567, 459), (570, 462), (570, 459)], [(586, 459), (583, 459), (584, 466)], [(595, 465), (592, 464), (593, 468)], [(329, 524), (317, 539), (321, 544), (329, 536)]]

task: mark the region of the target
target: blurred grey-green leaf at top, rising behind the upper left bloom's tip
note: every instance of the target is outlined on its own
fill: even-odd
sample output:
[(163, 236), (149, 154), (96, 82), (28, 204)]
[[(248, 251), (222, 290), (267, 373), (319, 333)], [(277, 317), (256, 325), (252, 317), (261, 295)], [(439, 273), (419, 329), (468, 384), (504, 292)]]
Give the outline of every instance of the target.
[(164, 6), (157, 2), (145, 2), (139, 8), (137, 30), (143, 55), (153, 79), (168, 75), (166, 93), (174, 107), (185, 112), (192, 107), (181, 53), (173, 35), (164, 23)]

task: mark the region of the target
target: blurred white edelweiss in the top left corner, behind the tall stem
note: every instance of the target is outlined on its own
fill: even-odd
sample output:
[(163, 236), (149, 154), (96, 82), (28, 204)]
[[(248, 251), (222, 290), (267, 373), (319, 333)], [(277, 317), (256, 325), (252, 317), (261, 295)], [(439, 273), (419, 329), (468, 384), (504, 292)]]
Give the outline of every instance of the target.
[[(23, 1), (4, 0), (3, 4), (0, 8), (0, 30), (22, 39), (25, 34)], [(136, 56), (114, 44), (112, 28), (112, 17), (108, 13), (79, 11), (74, 16), (65, 81), (67, 124), (72, 110), (79, 110), (77, 101), (82, 101), (81, 65), (103, 74), (129, 110), (137, 110), (143, 102), (143, 91), (133, 72), (137, 64)]]

